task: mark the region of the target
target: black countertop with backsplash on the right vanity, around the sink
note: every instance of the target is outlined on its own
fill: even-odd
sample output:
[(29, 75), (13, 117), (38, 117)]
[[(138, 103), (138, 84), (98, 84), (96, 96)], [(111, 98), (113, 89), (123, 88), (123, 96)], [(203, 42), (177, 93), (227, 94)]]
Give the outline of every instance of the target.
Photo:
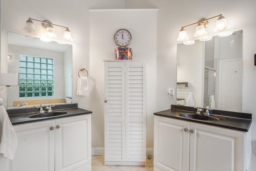
[(172, 105), (171, 109), (156, 112), (154, 115), (246, 132), (249, 130), (250, 125), (252, 124), (251, 113), (212, 110), (210, 115), (222, 118), (218, 121), (190, 119), (180, 116), (179, 114), (181, 113), (196, 113), (196, 109), (194, 109), (194, 107)]

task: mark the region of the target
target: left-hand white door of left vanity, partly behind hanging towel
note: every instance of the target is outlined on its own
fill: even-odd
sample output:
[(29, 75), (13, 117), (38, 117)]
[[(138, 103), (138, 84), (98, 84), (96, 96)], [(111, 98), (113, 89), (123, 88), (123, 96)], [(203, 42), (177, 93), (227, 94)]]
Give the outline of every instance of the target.
[(14, 126), (18, 148), (10, 171), (54, 171), (54, 121)]

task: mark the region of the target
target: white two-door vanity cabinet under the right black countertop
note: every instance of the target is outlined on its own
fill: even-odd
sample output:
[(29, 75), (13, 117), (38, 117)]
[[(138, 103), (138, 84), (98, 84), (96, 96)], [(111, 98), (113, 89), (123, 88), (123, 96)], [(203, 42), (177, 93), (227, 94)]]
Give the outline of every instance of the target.
[(154, 116), (155, 171), (246, 171), (246, 132)]

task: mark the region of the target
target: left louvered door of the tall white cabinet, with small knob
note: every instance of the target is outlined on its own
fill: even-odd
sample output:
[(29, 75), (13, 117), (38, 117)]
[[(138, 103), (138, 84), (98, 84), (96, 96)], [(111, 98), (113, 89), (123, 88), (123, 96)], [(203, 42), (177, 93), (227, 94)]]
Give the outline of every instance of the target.
[(125, 158), (124, 69), (125, 62), (105, 62), (105, 161)]

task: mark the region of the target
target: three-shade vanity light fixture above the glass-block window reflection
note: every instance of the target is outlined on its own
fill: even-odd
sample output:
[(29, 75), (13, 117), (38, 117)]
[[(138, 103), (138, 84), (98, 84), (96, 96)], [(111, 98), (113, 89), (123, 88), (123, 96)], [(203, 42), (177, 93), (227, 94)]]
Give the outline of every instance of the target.
[(57, 38), (55, 31), (54, 31), (54, 26), (65, 28), (62, 39), (67, 40), (67, 41), (73, 40), (72, 36), (71, 36), (71, 32), (68, 27), (53, 24), (49, 20), (40, 21), (40, 20), (36, 20), (33, 18), (28, 18), (28, 20), (26, 21), (26, 25), (25, 25), (24, 29), (22, 30), (23, 32), (28, 32), (28, 33), (36, 32), (36, 28), (35, 28), (32, 20), (42, 23), (42, 27), (44, 28), (45, 32), (44, 32), (43, 37), (40, 40), (42, 40), (44, 42), (51, 42), (52, 41), (51, 38)]

